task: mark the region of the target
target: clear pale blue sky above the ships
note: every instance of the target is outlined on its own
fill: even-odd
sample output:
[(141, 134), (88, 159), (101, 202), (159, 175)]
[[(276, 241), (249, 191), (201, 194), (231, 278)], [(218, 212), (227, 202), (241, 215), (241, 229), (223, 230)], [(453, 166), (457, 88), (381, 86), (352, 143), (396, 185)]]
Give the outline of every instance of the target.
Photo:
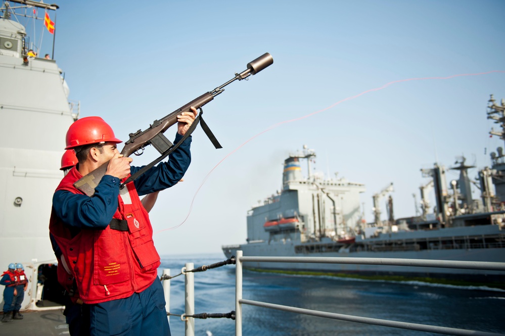
[[(317, 171), (366, 185), (361, 202), (369, 221), (372, 195), (390, 182), (395, 216), (414, 215), (412, 194), (419, 201), (419, 186), (428, 182), (421, 168), (436, 161), (451, 167), (462, 155), (482, 168), (503, 146), (489, 137), (486, 119), (489, 94), (505, 98), (503, 72), (396, 83), (247, 142), (392, 81), (505, 71), (503, 1), (58, 5), (55, 59), (69, 98), (80, 101), (82, 117), (103, 117), (123, 140), (263, 53), (273, 56), (271, 67), (229, 85), (204, 108), (223, 149), (214, 150), (200, 129), (194, 133), (185, 181), (163, 191), (151, 213), (155, 231), (187, 218), (155, 235), (161, 254), (245, 242), (247, 211), (280, 189), (284, 159), (303, 145), (316, 152)], [(133, 164), (156, 154), (149, 149)]]

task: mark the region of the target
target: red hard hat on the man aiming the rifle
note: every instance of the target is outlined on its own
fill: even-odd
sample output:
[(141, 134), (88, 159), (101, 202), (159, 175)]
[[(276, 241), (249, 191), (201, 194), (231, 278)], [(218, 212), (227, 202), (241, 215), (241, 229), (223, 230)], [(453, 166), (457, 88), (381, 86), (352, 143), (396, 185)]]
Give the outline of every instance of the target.
[(111, 126), (100, 117), (84, 117), (75, 121), (67, 131), (66, 150), (100, 142), (123, 142), (114, 136)]

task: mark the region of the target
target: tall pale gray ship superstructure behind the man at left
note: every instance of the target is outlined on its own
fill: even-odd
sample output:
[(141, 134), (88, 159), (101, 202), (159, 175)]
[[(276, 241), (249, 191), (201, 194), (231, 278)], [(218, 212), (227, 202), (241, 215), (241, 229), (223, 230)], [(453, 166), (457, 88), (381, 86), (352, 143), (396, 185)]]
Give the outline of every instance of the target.
[[(1, 8), (0, 267), (22, 263), (29, 279), (22, 309), (42, 309), (35, 303), (42, 298), (44, 282), (46, 289), (56, 283), (43, 271), (56, 262), (49, 239), (52, 197), (63, 177), (59, 168), (65, 134), (78, 117), (78, 104), (68, 101), (68, 86), (54, 60), (42, 53), (28, 55), (29, 36), (16, 17), (17, 10), (26, 17), (28, 6), (28, 13), (52, 15), (58, 8), (25, 0), (5, 2)], [(43, 19), (42, 14), (40, 26)]]

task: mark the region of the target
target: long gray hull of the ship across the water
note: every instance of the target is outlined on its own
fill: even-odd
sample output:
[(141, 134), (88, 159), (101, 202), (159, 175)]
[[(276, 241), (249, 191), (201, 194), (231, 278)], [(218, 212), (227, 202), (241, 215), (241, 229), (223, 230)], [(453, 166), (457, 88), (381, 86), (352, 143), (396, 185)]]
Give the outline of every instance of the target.
[[(301, 243), (293, 239), (225, 246), (226, 257), (335, 257), (335, 258), (403, 258), (451, 261), (505, 262), (505, 244), (495, 242), (502, 237), (497, 225), (445, 228), (432, 231), (410, 231), (357, 237), (355, 242), (339, 244), (331, 239)], [(478, 240), (477, 240), (478, 239)], [(425, 243), (424, 245), (419, 243)], [(463, 243), (462, 243), (463, 242)], [(435, 244), (440, 243), (440, 244)], [(409, 251), (410, 250), (410, 251)], [(296, 272), (338, 273), (359, 276), (404, 276), (463, 280), (505, 284), (505, 272), (456, 268), (405, 267), (390, 265), (310, 264), (247, 262), (245, 268)]]

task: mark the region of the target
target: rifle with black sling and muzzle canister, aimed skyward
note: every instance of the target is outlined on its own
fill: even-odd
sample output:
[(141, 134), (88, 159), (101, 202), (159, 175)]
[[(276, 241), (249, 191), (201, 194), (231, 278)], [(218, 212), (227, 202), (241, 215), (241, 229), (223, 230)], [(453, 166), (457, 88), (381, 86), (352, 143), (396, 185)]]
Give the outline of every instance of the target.
[[(128, 157), (131, 154), (141, 155), (142, 152), (144, 151), (144, 148), (148, 145), (153, 145), (153, 147), (161, 154), (161, 156), (158, 159), (151, 162), (150, 164), (148, 164), (147, 166), (137, 171), (135, 174), (128, 177), (128, 179), (121, 184), (121, 188), (124, 187), (126, 183), (133, 181), (135, 178), (139, 177), (144, 172), (146, 172), (146, 170), (152, 168), (154, 165), (159, 163), (161, 160), (166, 158), (170, 153), (176, 150), (177, 147), (193, 132), (198, 123), (202, 124), (203, 130), (214, 144), (214, 147), (221, 148), (221, 145), (219, 145), (219, 142), (217, 142), (216, 138), (214, 137), (210, 129), (207, 127), (204, 120), (202, 119), (202, 113), (203, 113), (202, 106), (212, 101), (214, 97), (216, 97), (216, 95), (222, 93), (224, 91), (224, 87), (229, 83), (232, 83), (235, 80), (246, 79), (251, 75), (257, 74), (258, 72), (260, 72), (261, 70), (272, 64), (273, 64), (272, 56), (268, 53), (265, 53), (264, 55), (258, 57), (254, 61), (248, 63), (246, 70), (242, 71), (241, 73), (235, 73), (235, 77), (233, 79), (228, 80), (226, 83), (216, 87), (210, 92), (202, 94), (197, 99), (178, 108), (177, 110), (161, 118), (160, 120), (153, 121), (153, 123), (145, 131), (139, 129), (135, 133), (130, 133), (129, 134), (130, 138), (128, 139), (128, 141), (124, 143), (124, 147), (121, 151), (121, 154), (123, 156)], [(194, 107), (197, 110), (199, 109), (200, 114), (196, 117), (195, 121), (190, 126), (186, 134), (182, 137), (182, 139), (179, 140), (179, 142), (177, 142), (176, 145), (173, 145), (173, 143), (170, 142), (170, 140), (168, 140), (166, 136), (163, 135), (163, 133), (170, 126), (177, 123), (178, 115), (182, 114), (183, 112), (189, 112), (191, 107)], [(83, 193), (85, 193), (87, 196), (93, 196), (95, 194), (96, 186), (98, 185), (98, 183), (100, 182), (100, 180), (107, 171), (108, 165), (109, 162), (104, 163), (102, 166), (98, 167), (94, 171), (83, 176), (81, 179), (75, 182), (74, 186), (79, 190), (83, 191)]]

